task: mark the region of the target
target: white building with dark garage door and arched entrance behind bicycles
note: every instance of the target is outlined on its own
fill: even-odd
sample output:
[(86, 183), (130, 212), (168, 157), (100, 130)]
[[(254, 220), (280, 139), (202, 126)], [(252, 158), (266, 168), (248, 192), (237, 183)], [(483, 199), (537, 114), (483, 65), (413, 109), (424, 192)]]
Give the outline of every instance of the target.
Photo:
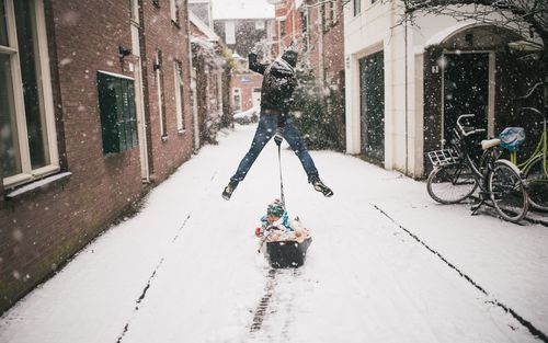
[(424, 153), (449, 139), (460, 114), (494, 136), (525, 125), (512, 103), (539, 81), (523, 59), (517, 27), (418, 14), (401, 23), (398, 1), (353, 0), (344, 8), (346, 150), (422, 178)]

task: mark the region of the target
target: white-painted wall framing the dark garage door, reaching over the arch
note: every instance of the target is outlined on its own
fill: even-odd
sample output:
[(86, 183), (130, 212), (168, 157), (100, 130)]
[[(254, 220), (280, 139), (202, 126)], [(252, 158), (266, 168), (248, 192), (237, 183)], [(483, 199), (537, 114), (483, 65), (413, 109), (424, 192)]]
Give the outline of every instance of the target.
[[(415, 18), (416, 26), (398, 25), (402, 7), (397, 0), (362, 0), (354, 16), (353, 1), (344, 8), (346, 71), (346, 151), (359, 153), (359, 58), (385, 55), (385, 168), (421, 176), (424, 161), (423, 46), (458, 26), (449, 16)], [(407, 44), (406, 44), (407, 41)], [(407, 57), (407, 58), (406, 58)], [(407, 76), (407, 78), (406, 78)]]

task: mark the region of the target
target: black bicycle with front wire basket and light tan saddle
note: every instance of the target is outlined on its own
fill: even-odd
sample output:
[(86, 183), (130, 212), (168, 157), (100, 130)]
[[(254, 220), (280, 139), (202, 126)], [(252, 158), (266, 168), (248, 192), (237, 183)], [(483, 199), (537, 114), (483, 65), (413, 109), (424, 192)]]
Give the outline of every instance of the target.
[(481, 141), (483, 153), (477, 161), (471, 155), (476, 149), (475, 138), (486, 129), (460, 123), (473, 116), (458, 117), (448, 149), (427, 153), (434, 167), (426, 182), (429, 195), (441, 204), (458, 204), (479, 187), (480, 202), (472, 206), (472, 215), (489, 202), (501, 218), (518, 222), (528, 209), (528, 195), (520, 170), (509, 160), (499, 159), (502, 151), (498, 138)]

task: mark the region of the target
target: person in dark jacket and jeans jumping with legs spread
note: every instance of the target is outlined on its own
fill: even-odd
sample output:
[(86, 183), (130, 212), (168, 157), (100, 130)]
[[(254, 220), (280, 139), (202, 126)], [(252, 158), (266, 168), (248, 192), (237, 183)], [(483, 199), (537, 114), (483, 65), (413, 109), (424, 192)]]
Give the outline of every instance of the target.
[(333, 191), (321, 182), (310, 153), (302, 144), (292, 118), (288, 117), (292, 94), (297, 85), (295, 76), (297, 55), (296, 47), (290, 46), (282, 57), (271, 65), (262, 65), (258, 61), (256, 53), (249, 54), (249, 69), (263, 75), (261, 116), (248, 153), (241, 160), (236, 174), (230, 178), (230, 182), (222, 192), (222, 197), (227, 201), (230, 199), (238, 183), (246, 178), (264, 146), (276, 134), (285, 138), (295, 151), (308, 175), (308, 182), (313, 185), (313, 188), (324, 196), (333, 195)]

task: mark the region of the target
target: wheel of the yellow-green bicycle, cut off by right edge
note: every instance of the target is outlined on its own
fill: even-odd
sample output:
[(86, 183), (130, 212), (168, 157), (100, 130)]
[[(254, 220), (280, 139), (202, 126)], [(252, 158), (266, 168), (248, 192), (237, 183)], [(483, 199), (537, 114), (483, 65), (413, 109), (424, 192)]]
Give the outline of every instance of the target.
[(544, 156), (536, 157), (525, 170), (529, 204), (540, 210), (548, 210), (548, 157), (546, 164)]

